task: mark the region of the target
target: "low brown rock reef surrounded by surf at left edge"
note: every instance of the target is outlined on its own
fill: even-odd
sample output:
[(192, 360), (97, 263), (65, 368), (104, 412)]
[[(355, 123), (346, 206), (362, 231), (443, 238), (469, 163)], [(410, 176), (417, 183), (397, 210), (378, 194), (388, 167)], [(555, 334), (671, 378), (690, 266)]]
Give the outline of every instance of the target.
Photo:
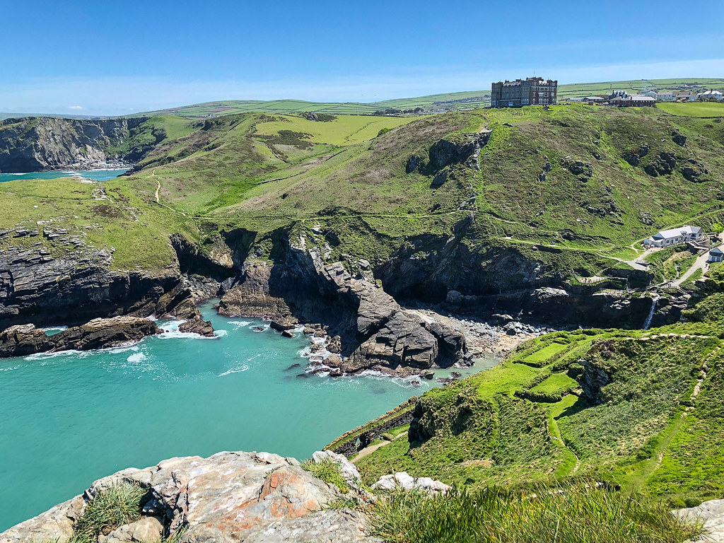
[(0, 332), (0, 357), (58, 350), (103, 349), (135, 343), (158, 331), (154, 321), (133, 316), (93, 319), (52, 336), (36, 329), (33, 324), (17, 325)]

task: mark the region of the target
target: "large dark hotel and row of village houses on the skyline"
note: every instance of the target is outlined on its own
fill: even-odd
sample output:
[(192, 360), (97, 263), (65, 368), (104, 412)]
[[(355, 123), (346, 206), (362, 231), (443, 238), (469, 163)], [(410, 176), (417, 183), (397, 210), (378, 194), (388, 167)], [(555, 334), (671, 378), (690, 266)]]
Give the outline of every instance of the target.
[[(558, 104), (557, 80), (540, 77), (526, 77), (514, 81), (498, 81), (491, 85), (490, 105), (492, 107), (548, 106)], [(612, 90), (608, 94), (583, 96), (580, 98), (563, 98), (561, 104), (582, 103), (592, 106), (641, 107), (654, 106), (660, 102), (686, 101), (722, 101), (724, 95), (720, 90), (642, 90), (636, 94), (628, 94), (626, 90)]]

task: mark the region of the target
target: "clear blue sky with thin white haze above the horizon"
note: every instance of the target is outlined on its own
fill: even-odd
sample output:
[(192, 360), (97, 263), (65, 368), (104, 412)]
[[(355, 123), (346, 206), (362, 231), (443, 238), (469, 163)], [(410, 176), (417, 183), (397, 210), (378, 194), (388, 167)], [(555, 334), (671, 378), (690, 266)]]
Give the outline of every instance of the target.
[(533, 71), (724, 77), (723, 0), (7, 0), (0, 21), (0, 111), (377, 101)]

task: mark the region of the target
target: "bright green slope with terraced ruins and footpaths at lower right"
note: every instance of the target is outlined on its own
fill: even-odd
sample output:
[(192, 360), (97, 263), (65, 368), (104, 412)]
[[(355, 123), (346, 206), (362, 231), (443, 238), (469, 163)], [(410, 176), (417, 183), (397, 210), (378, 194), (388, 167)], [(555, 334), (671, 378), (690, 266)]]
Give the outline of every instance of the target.
[(395, 471), (471, 488), (583, 478), (675, 506), (721, 498), (723, 337), (710, 320), (718, 315), (526, 342), (500, 366), (426, 392), (408, 438), (357, 466), (369, 483)]

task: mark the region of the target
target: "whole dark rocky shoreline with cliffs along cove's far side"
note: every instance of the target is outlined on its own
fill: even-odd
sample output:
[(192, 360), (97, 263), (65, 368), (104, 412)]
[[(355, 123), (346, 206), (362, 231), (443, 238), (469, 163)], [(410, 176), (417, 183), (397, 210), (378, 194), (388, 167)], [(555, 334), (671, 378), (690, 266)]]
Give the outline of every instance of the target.
[[(73, 248), (62, 257), (40, 245), (33, 248), (33, 237), (41, 235)], [(327, 263), (329, 255), (313, 236), (287, 239), (284, 257), (274, 262), (237, 254), (227, 243), (200, 253), (174, 236), (177, 268), (143, 272), (112, 270), (112, 251), (98, 251), (69, 232), (17, 227), (0, 232), (0, 242), (21, 237), (31, 247), (0, 248), (0, 328), (157, 315), (193, 321), (184, 326), (209, 336), (213, 328), (198, 320), (196, 304), (219, 296), (222, 316), (269, 319), (284, 334), (302, 327), (313, 336), (310, 371), (429, 378), (433, 369), (469, 366), (484, 354), (504, 355), (522, 340), (552, 329), (530, 324), (533, 319), (555, 327), (572, 319), (610, 326), (620, 315), (634, 324), (639, 317), (642, 323), (651, 307), (648, 298), (576, 295), (552, 287), (494, 299), (450, 290), (442, 302), (400, 305), (379, 285), (369, 262), (348, 256)], [(227, 239), (232, 238), (244, 235)], [(399, 287), (399, 280), (394, 285)], [(685, 304), (662, 298), (654, 325), (678, 320)], [(575, 321), (579, 317), (586, 320)]]

